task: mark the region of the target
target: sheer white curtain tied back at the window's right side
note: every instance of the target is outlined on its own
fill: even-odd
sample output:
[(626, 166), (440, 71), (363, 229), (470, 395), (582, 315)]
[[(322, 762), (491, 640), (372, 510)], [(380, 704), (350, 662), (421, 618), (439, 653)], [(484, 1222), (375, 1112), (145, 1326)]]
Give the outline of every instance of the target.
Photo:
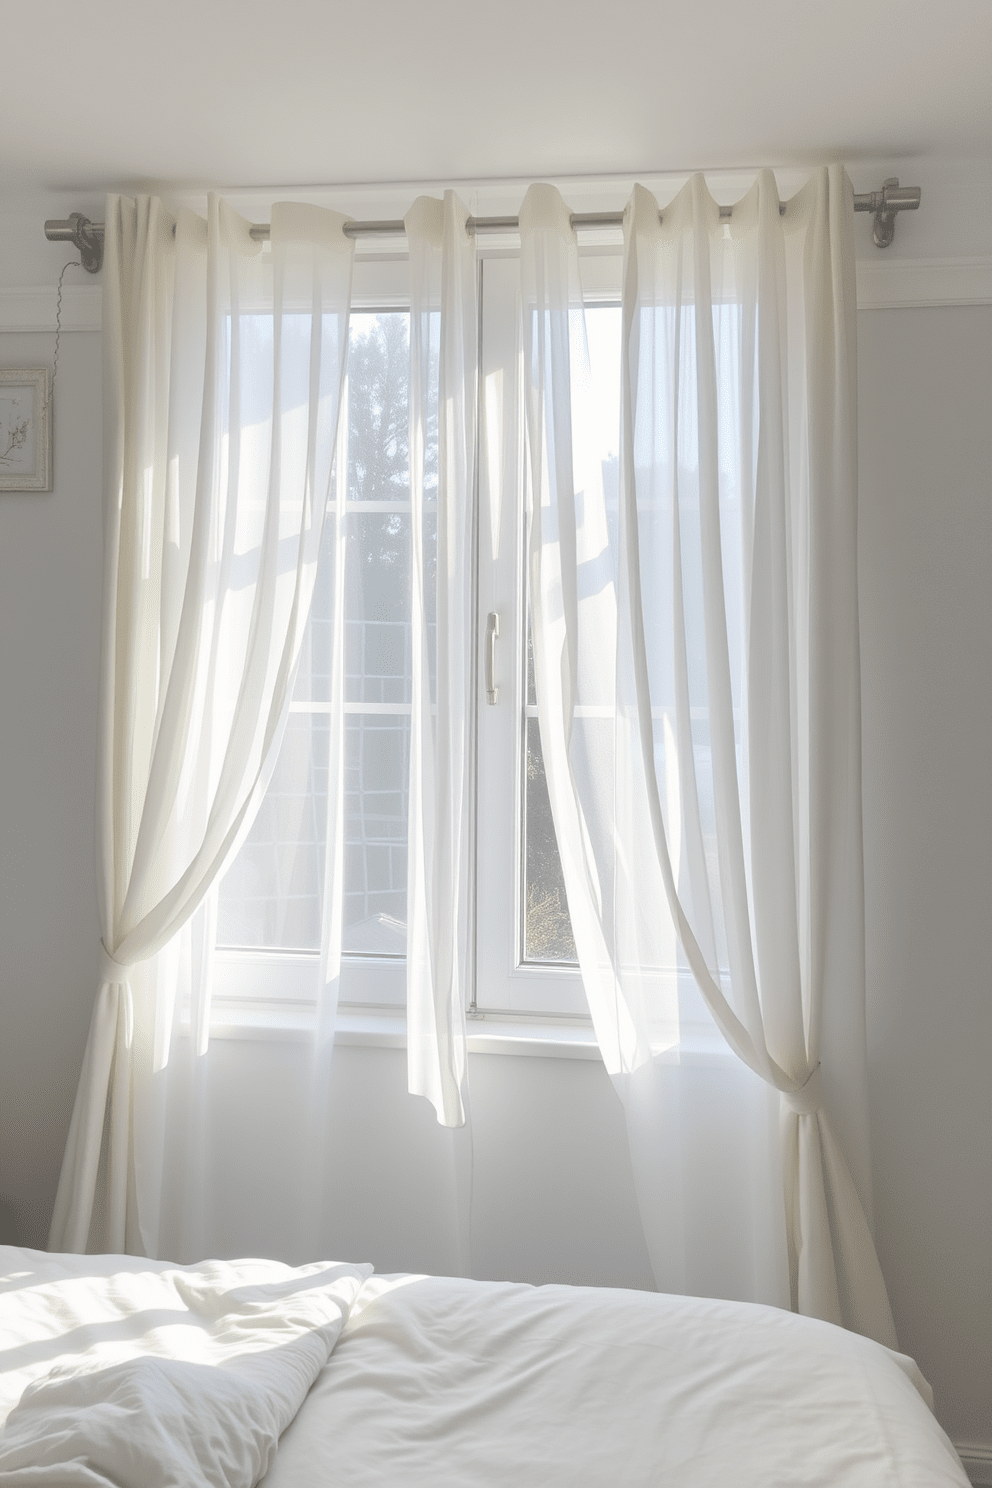
[[(782, 214), (766, 173), (729, 223), (700, 177), (662, 222), (635, 190), (616, 513), (550, 187), (521, 237), (541, 743), (657, 1284), (894, 1344), (866, 1219), (849, 182)], [(693, 1059), (686, 964), (747, 1071)]]

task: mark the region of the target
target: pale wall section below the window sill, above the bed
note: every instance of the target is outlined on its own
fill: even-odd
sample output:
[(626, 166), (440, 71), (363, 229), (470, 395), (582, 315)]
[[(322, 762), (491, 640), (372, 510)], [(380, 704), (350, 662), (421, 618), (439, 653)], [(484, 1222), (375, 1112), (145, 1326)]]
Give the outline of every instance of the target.
[[(205, 1234), (225, 1254), (293, 1259), (302, 1189), (284, 1132), (300, 1129), (308, 1048), (214, 1039), (208, 1059), (196, 1132)], [(623, 1110), (602, 1064), (477, 1054), (470, 1083), (471, 1128), (452, 1132), (408, 1095), (405, 1051), (336, 1048), (324, 1248), (378, 1271), (458, 1274), (458, 1165), (473, 1275), (653, 1287)], [(168, 1219), (162, 1248), (181, 1253)]]

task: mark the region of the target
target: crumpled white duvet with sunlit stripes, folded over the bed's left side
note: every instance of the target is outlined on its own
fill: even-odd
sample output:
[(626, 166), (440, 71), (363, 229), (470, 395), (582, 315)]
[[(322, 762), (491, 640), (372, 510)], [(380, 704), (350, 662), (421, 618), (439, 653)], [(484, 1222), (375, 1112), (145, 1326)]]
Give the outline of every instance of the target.
[(1, 1245), (1, 1488), (251, 1488), (370, 1272)]

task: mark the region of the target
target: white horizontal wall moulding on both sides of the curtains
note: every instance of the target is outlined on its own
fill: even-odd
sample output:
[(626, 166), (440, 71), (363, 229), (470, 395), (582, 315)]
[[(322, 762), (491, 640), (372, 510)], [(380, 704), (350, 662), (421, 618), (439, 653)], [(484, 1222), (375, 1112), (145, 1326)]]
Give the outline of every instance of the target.
[[(858, 310), (992, 305), (992, 256), (979, 259), (860, 259)], [(62, 330), (100, 330), (100, 284), (65, 284)], [(0, 332), (55, 332), (55, 286), (0, 289)]]

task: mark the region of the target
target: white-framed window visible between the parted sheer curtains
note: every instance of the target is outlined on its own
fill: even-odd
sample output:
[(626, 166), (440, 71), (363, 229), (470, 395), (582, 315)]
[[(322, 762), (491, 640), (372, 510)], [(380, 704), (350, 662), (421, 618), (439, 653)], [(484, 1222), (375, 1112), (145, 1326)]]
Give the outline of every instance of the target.
[[(405, 998), (410, 713), (405, 277), (403, 262), (357, 265), (335, 496), (344, 503), (348, 530), (341, 998), (381, 1007)], [(593, 296), (586, 318), (589, 408), (604, 487), (616, 512), (619, 254), (586, 259), (583, 277)], [(476, 689), (477, 975), (470, 1010), (582, 1018), (586, 1003), (528, 665), (518, 295), (516, 257), (483, 256), (476, 655), (482, 653), (489, 613), (500, 616), (500, 635), (497, 704), (486, 701), (482, 661)], [(222, 1006), (231, 997), (250, 995), (289, 1010), (305, 1006), (315, 992), (324, 897), (333, 543), (329, 522), (280, 757), (219, 890), (214, 995)]]

